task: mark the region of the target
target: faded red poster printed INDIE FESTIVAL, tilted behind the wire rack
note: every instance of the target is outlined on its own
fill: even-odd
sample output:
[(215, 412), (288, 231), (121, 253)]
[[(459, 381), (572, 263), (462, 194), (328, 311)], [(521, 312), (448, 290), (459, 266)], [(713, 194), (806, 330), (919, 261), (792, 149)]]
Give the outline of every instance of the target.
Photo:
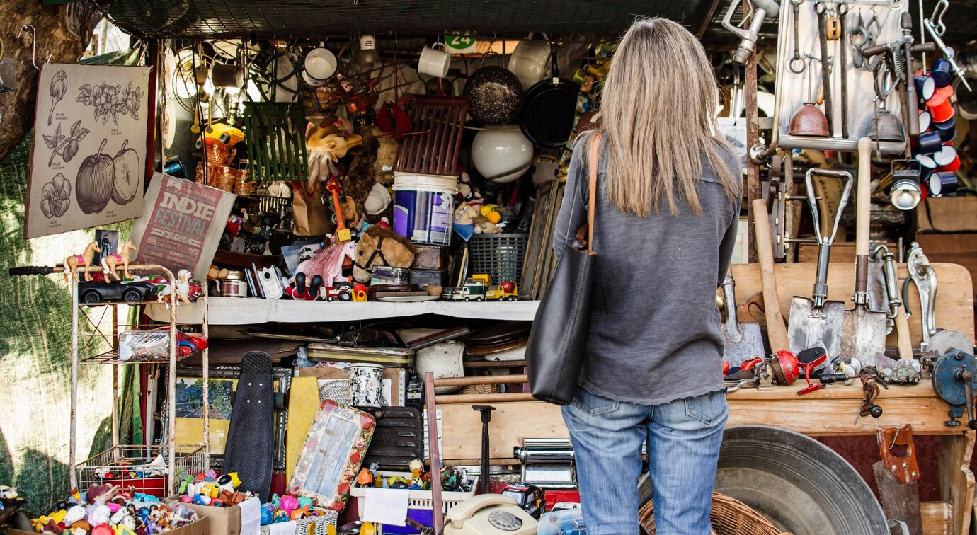
[(205, 280), (236, 199), (209, 185), (162, 173), (152, 175), (143, 217), (132, 226), (139, 264), (158, 264), (176, 274), (190, 269)]

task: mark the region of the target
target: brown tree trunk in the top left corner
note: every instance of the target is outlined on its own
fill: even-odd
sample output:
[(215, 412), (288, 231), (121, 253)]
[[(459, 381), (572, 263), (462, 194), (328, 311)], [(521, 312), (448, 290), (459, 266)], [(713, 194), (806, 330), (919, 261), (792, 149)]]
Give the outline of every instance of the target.
[[(34, 123), (37, 101), (37, 72), (31, 62), (29, 28), (37, 30), (37, 66), (51, 62), (78, 62), (88, 46), (92, 30), (102, 19), (91, 0), (46, 6), (40, 0), (4, 0), (5, 16), (0, 18), (3, 57), (14, 59), (17, 80), (14, 91), (0, 94), (0, 160), (17, 144)], [(80, 37), (79, 37), (80, 36)], [(5, 85), (7, 81), (5, 80)]]

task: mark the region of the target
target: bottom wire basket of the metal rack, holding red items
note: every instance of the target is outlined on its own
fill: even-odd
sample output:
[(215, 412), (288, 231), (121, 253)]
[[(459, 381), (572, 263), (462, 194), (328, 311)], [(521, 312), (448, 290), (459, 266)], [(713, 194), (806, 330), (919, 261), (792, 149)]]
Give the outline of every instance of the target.
[[(177, 446), (173, 470), (177, 481), (206, 471), (202, 447), (179, 453), (181, 448)], [(159, 446), (113, 446), (78, 463), (78, 488), (109, 483), (164, 498), (169, 494), (166, 458), (166, 450)]]

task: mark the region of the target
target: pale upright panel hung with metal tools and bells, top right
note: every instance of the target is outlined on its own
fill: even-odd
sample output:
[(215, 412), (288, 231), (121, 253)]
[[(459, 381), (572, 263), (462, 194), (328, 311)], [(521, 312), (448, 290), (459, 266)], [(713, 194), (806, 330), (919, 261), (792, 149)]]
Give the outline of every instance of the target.
[[(857, 149), (859, 138), (868, 134), (875, 121), (878, 106), (872, 91), (874, 73), (869, 68), (875, 63), (862, 58), (860, 47), (856, 45), (870, 47), (899, 40), (902, 36), (900, 16), (907, 8), (905, 0), (860, 0), (849, 4), (823, 0), (781, 2), (774, 117), (775, 128), (779, 131), (778, 146)], [(820, 19), (827, 22), (824, 31), (828, 34), (827, 47), (822, 42)], [(828, 53), (827, 63), (821, 62), (823, 51)], [(814, 61), (808, 62), (808, 57)], [(842, 61), (845, 64), (840, 64)], [(824, 83), (826, 71), (828, 83)], [(813, 78), (809, 80), (809, 77)], [(828, 137), (788, 134), (790, 118), (810, 100), (808, 82), (823, 91), (825, 115), (830, 124)], [(820, 92), (816, 90), (816, 93)], [(899, 109), (896, 93), (893, 91), (884, 97), (882, 102), (886, 109)], [(880, 145), (881, 152), (888, 154), (899, 153), (904, 148), (905, 144), (894, 142)]]

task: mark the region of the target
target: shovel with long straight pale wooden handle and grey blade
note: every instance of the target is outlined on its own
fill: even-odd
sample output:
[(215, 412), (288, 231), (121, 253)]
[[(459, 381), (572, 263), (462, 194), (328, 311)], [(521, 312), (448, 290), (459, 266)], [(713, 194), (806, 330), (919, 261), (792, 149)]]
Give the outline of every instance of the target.
[(845, 310), (841, 358), (858, 358), (863, 366), (882, 369), (893, 363), (885, 356), (885, 312), (869, 309), (869, 219), (871, 218), (871, 140), (858, 142), (858, 185), (855, 198), (855, 307)]

